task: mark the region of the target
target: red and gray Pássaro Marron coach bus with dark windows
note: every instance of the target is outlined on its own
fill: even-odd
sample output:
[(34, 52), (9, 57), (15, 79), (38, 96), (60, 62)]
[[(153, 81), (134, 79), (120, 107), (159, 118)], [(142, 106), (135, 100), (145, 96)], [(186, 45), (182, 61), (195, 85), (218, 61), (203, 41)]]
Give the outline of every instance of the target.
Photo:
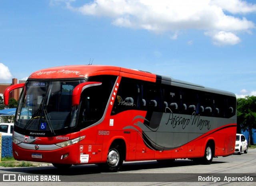
[(211, 164), (232, 155), (236, 96), (168, 76), (102, 65), (38, 70), (22, 88), (13, 132), (16, 160), (57, 168), (123, 161)]

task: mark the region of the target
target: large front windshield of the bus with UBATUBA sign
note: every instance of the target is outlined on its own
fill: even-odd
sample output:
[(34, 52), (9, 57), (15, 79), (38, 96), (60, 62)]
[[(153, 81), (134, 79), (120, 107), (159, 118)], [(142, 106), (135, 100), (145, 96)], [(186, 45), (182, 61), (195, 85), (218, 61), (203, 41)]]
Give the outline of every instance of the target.
[(74, 131), (78, 128), (78, 106), (72, 107), (72, 92), (83, 82), (85, 80), (28, 81), (18, 104), (14, 123), (17, 131), (45, 136)]

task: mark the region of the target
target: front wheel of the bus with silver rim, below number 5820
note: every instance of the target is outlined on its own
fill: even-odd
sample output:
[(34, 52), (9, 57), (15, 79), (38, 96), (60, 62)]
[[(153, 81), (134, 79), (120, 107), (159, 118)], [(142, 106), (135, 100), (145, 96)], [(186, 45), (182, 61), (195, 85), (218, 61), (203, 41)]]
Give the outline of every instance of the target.
[(108, 172), (116, 172), (122, 166), (124, 161), (123, 151), (120, 145), (111, 145), (108, 150), (107, 161), (103, 167)]

